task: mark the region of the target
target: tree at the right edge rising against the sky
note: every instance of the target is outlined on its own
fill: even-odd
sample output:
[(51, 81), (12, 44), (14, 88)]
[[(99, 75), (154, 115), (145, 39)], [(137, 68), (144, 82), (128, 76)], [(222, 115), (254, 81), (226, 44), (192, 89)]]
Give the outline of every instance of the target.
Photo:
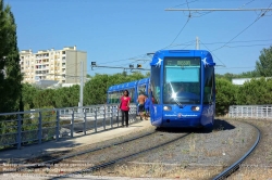
[(259, 62), (256, 62), (256, 70), (264, 77), (272, 76), (272, 46), (269, 49), (263, 49), (259, 56)]

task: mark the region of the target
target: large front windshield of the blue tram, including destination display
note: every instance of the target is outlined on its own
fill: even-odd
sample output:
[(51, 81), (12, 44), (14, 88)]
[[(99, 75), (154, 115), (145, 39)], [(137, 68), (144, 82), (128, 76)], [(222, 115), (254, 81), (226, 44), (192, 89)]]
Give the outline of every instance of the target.
[(200, 104), (200, 57), (165, 57), (164, 104)]

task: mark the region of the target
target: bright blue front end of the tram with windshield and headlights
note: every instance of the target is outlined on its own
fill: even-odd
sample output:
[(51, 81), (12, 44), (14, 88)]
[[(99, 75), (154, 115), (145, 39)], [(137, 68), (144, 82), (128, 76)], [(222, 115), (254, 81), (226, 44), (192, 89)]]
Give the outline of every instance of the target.
[(156, 127), (213, 127), (214, 66), (205, 50), (162, 50), (151, 65), (150, 120)]

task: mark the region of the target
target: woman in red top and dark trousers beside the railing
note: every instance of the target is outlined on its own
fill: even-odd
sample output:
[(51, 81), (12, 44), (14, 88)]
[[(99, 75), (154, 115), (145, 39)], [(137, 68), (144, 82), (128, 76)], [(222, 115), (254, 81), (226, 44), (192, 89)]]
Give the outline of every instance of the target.
[(121, 103), (120, 103), (123, 127), (124, 127), (124, 118), (125, 118), (125, 126), (128, 127), (128, 111), (129, 111), (129, 103), (131, 103), (131, 98), (128, 95), (129, 95), (128, 91), (124, 90), (123, 97), (121, 98)]

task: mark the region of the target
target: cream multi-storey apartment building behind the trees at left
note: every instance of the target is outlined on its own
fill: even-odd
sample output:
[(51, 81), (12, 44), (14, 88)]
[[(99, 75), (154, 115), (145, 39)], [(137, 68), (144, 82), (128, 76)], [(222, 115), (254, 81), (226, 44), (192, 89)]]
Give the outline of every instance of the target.
[(41, 80), (55, 80), (60, 83), (79, 83), (82, 65), (84, 77), (87, 74), (87, 52), (76, 47), (64, 47), (62, 50), (32, 50), (20, 52), (20, 65), (24, 75), (23, 82), (35, 83)]

